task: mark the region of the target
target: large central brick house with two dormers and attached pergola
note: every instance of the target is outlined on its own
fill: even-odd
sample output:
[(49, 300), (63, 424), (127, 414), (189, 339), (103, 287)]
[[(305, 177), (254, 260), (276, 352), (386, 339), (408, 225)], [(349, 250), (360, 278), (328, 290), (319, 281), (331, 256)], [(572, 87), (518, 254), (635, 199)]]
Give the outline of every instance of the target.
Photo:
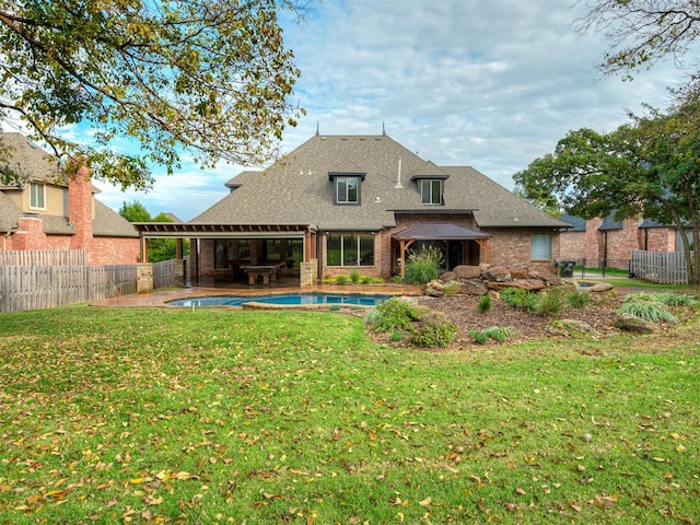
[(189, 222), (138, 225), (144, 237), (196, 240), (192, 278), (271, 264), (301, 270), (302, 285), (352, 270), (389, 279), (421, 245), (438, 246), (445, 269), (489, 262), (551, 275), (565, 226), (475, 168), (438, 166), (386, 135), (316, 133), (226, 186)]

